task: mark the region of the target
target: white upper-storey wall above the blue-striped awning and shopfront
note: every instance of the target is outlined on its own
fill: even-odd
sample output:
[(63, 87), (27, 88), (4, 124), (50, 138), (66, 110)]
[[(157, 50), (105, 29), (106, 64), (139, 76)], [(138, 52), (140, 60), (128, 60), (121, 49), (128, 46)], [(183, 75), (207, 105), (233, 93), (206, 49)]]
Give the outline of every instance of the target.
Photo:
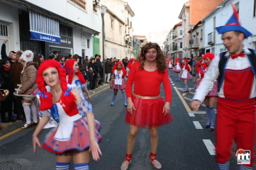
[(80, 8), (70, 0), (26, 0), (40, 8), (56, 13), (71, 21), (101, 32), (101, 14), (93, 12), (93, 0), (86, 0), (86, 10)]

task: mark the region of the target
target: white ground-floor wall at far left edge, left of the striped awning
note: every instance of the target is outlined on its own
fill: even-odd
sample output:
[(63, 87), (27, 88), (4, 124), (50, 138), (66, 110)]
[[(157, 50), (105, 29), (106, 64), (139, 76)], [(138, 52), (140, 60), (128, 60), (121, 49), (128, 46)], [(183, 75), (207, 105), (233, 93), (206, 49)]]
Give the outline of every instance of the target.
[[(9, 51), (18, 51), (20, 50), (20, 41), (19, 41), (19, 14), (18, 9), (9, 6), (6, 3), (3, 3), (0, 0), (0, 23), (8, 25), (9, 31), (9, 41), (6, 44), (6, 53), (9, 54)], [(0, 37), (0, 45), (2, 45), (3, 37)], [(7, 51), (9, 50), (9, 51)]]

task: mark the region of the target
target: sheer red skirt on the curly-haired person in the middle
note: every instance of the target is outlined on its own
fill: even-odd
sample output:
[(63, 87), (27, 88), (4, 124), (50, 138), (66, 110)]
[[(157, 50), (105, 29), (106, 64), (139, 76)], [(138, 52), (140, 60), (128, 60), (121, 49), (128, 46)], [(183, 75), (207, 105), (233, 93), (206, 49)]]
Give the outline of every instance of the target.
[(132, 95), (132, 101), (136, 110), (130, 114), (126, 110), (125, 122), (140, 128), (154, 128), (161, 125), (168, 125), (173, 121), (171, 113), (164, 115), (163, 106), (165, 102), (163, 98), (142, 99)]

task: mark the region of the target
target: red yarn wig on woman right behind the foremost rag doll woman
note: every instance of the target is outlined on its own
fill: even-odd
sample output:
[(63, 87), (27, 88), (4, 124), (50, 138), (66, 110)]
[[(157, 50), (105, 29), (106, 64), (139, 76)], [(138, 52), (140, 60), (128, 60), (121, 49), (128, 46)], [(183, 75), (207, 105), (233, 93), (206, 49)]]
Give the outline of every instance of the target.
[[(68, 73), (68, 84), (72, 83), (72, 79), (74, 76), (73, 66), (74, 66), (75, 61), (77, 61), (77, 60), (70, 59), (70, 60), (66, 61), (66, 63), (65, 63), (65, 69), (66, 69), (66, 72)], [(85, 84), (86, 81), (85, 81), (82, 73), (80, 72), (80, 69), (78, 69), (78, 72), (76, 73), (76, 75), (78, 76), (78, 79), (80, 80), (80, 82), (82, 84)]]

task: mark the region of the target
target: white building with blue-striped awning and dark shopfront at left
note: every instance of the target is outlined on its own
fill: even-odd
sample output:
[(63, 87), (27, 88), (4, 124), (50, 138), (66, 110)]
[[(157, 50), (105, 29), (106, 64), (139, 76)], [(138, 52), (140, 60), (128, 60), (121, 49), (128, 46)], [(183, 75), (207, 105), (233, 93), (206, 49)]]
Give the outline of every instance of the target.
[[(0, 24), (7, 26), (8, 32), (7, 36), (0, 35), (0, 39), (9, 39), (6, 51), (29, 49), (46, 58), (52, 51), (64, 56), (93, 55), (93, 35), (102, 31), (97, 0), (54, 0), (54, 3), (0, 0), (0, 3)], [(59, 41), (51, 41), (55, 39), (52, 36)]]

